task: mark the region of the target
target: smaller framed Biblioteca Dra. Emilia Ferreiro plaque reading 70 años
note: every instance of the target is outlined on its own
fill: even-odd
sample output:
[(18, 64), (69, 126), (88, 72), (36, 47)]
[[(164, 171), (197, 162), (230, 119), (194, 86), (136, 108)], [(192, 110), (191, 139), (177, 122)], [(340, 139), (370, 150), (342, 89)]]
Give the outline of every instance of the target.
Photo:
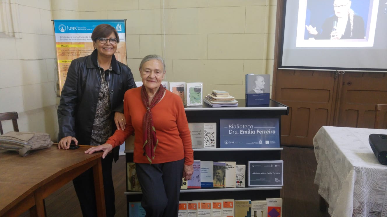
[(283, 186), (284, 161), (248, 161), (248, 186)]

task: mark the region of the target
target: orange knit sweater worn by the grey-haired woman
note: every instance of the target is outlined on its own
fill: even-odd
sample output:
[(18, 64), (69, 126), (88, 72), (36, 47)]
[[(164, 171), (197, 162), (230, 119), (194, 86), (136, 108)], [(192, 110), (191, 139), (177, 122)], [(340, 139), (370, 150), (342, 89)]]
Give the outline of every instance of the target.
[[(144, 143), (142, 141), (142, 122), (146, 108), (142, 103), (140, 90), (141, 87), (138, 87), (125, 92), (125, 131), (116, 130), (106, 143), (116, 147), (134, 132), (134, 162), (149, 163), (142, 149)], [(193, 164), (194, 151), (182, 99), (175, 93), (166, 90), (164, 98), (151, 111), (156, 136), (159, 140), (152, 163), (166, 163), (185, 158), (184, 164)]]

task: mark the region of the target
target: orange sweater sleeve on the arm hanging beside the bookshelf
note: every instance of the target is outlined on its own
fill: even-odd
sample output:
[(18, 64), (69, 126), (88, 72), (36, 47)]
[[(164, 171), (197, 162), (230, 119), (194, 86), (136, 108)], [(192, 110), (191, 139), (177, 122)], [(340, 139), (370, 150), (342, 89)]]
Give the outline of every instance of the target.
[(178, 103), (176, 103), (177, 109), (177, 119), (176, 124), (180, 133), (180, 138), (183, 141), (184, 146), (184, 164), (192, 165), (194, 163), (194, 150), (192, 149), (192, 141), (190, 129), (188, 128), (187, 116), (185, 115), (184, 105), (179, 98)]

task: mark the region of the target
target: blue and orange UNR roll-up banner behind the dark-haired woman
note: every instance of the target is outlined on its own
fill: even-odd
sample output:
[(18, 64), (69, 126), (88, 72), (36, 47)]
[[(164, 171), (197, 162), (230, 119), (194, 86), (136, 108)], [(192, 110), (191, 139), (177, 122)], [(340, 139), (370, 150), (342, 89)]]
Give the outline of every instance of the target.
[(71, 61), (93, 52), (91, 33), (99, 24), (109, 24), (116, 28), (120, 43), (114, 55), (118, 61), (127, 64), (125, 20), (53, 20), (53, 22), (58, 59), (58, 93), (62, 92)]

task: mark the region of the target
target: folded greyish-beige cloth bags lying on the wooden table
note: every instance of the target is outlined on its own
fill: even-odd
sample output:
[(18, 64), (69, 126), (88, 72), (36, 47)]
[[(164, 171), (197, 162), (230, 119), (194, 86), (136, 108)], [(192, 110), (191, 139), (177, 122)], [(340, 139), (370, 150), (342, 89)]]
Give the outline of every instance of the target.
[(42, 132), (11, 131), (0, 135), (0, 150), (18, 151), (23, 157), (31, 150), (48, 148), (52, 144), (50, 135)]

